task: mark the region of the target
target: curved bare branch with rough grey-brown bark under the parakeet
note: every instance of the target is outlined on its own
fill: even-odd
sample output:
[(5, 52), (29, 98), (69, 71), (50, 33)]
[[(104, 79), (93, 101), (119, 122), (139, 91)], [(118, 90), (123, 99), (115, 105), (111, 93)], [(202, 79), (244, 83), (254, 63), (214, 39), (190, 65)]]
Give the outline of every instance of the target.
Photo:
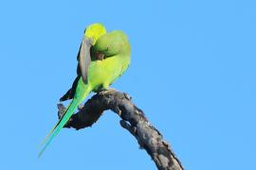
[[(59, 104), (58, 109), (60, 118), (65, 108)], [(127, 93), (110, 90), (95, 94), (72, 115), (65, 127), (74, 127), (77, 130), (91, 127), (104, 110), (118, 113), (121, 118), (120, 126), (136, 137), (139, 146), (147, 151), (159, 170), (184, 169), (175, 157), (170, 144), (163, 140), (161, 133), (151, 125), (143, 111), (137, 108)]]

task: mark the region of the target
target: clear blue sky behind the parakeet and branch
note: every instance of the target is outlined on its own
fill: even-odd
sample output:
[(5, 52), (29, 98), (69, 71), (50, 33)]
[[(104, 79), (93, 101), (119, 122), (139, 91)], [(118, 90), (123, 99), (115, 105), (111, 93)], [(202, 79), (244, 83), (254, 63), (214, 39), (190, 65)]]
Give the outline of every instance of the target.
[(130, 93), (189, 170), (256, 169), (255, 1), (1, 1), (0, 169), (155, 169), (106, 112), (37, 145), (76, 76), (85, 26), (125, 31)]

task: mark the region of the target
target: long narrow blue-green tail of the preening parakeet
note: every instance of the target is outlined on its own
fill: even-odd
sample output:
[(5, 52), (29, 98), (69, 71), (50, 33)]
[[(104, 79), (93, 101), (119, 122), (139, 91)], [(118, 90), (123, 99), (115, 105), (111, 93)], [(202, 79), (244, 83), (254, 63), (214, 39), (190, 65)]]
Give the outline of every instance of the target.
[(59, 122), (52, 128), (50, 133), (46, 136), (46, 139), (43, 141), (44, 147), (39, 152), (38, 157), (41, 157), (44, 151), (46, 150), (46, 147), (51, 143), (53, 138), (61, 131), (61, 129), (64, 127), (66, 122), (69, 120), (69, 118), (72, 116), (73, 112), (78, 108), (78, 106), (82, 103), (82, 100), (90, 93), (90, 88), (84, 84), (79, 83), (76, 93), (79, 93), (77, 96), (74, 97), (71, 104), (68, 106), (67, 110), (65, 110), (63, 117), (59, 120)]

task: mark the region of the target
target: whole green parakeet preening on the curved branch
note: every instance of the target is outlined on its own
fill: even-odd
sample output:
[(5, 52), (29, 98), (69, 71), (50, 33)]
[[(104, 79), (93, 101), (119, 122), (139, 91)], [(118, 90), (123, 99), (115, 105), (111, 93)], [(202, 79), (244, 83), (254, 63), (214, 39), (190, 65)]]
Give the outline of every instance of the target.
[(44, 140), (43, 154), (52, 139), (60, 132), (73, 112), (91, 92), (106, 90), (130, 64), (131, 47), (126, 35), (120, 30), (106, 33), (101, 24), (87, 26), (78, 54), (78, 76), (72, 88), (61, 101), (72, 99), (64, 116), (49, 132)]

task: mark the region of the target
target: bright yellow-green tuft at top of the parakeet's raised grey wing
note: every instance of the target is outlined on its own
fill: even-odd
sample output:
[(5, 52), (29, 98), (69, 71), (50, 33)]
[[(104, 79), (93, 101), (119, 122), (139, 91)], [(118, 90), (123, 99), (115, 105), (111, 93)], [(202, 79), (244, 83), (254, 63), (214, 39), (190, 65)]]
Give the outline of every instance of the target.
[(85, 28), (84, 37), (92, 39), (92, 45), (94, 45), (95, 42), (97, 42), (97, 40), (105, 33), (105, 27), (100, 23), (96, 23)]

